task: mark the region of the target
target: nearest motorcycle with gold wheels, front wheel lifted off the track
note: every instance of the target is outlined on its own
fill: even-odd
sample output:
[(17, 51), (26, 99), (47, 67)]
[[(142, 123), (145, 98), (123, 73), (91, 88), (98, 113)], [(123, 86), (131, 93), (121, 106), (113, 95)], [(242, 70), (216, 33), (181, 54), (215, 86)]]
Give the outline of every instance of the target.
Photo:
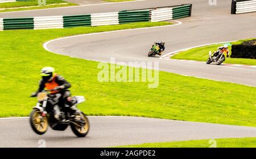
[[(37, 95), (38, 103), (33, 107), (30, 113), (30, 125), (35, 133), (43, 135), (48, 129), (48, 125), (53, 130), (64, 131), (68, 125), (71, 125), (73, 133), (78, 137), (84, 137), (88, 134), (90, 124), (86, 115), (76, 106), (85, 101), (83, 96), (72, 97), (72, 110), (76, 113), (71, 115), (71, 107), (67, 104), (59, 107), (59, 98), (61, 94), (49, 94), (50, 91), (44, 90)], [(49, 108), (47, 103), (53, 106)]]

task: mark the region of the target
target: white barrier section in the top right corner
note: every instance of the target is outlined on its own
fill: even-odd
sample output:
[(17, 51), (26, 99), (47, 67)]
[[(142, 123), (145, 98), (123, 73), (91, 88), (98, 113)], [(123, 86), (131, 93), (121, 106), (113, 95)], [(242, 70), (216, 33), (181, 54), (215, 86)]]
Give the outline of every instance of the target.
[(237, 2), (236, 14), (256, 11), (256, 0)]

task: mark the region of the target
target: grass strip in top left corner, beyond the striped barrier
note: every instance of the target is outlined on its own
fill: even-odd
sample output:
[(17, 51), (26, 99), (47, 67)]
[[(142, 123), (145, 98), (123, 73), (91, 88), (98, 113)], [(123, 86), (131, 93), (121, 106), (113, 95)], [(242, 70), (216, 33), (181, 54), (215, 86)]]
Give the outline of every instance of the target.
[(28, 0), (19, 2), (0, 3), (0, 12), (48, 9), (53, 7), (75, 6), (74, 3), (68, 3), (63, 0), (47, 0), (46, 5), (40, 6), (38, 0)]

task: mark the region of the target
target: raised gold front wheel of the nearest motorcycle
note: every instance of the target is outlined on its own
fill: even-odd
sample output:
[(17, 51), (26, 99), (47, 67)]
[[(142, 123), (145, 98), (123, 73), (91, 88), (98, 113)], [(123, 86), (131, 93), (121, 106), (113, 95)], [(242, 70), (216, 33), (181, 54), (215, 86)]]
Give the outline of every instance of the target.
[(48, 120), (46, 116), (41, 116), (41, 112), (34, 109), (30, 113), (30, 125), (35, 133), (43, 135), (48, 129)]

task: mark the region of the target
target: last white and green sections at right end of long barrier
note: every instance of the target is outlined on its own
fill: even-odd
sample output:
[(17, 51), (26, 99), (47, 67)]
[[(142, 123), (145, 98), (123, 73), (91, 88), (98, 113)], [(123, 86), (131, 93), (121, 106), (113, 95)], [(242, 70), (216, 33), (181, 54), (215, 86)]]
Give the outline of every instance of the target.
[(151, 22), (160, 22), (191, 16), (192, 5), (181, 5), (151, 11)]

